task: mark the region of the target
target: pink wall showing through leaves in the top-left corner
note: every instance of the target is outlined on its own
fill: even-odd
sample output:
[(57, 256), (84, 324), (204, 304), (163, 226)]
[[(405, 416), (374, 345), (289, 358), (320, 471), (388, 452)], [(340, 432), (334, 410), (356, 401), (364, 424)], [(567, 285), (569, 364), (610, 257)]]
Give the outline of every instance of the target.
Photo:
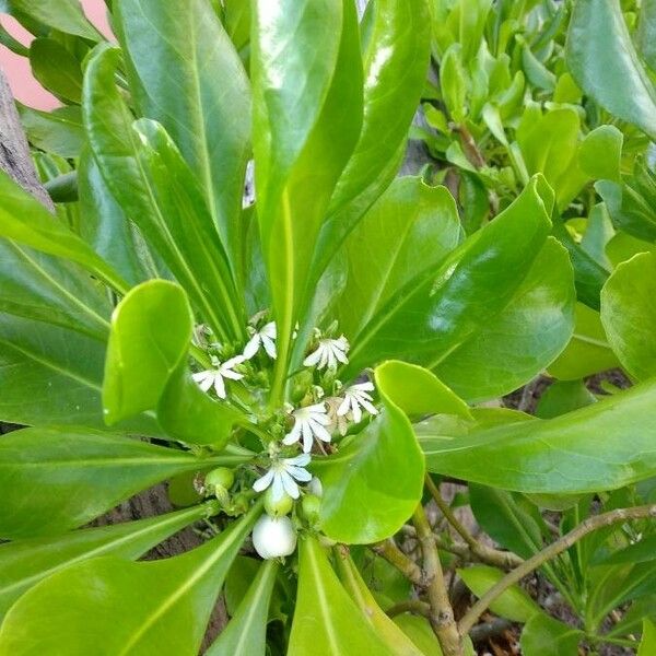
[[(112, 33), (107, 23), (104, 0), (82, 0), (84, 12), (90, 21), (106, 36)], [(0, 13), (0, 23), (17, 40), (28, 45), (32, 35), (23, 30), (11, 16)], [(51, 109), (57, 107), (59, 101), (49, 94), (33, 77), (30, 71), (30, 61), (19, 57), (11, 50), (0, 45), (0, 67), (9, 78), (9, 83), (14, 96), (24, 105), (37, 109)]]

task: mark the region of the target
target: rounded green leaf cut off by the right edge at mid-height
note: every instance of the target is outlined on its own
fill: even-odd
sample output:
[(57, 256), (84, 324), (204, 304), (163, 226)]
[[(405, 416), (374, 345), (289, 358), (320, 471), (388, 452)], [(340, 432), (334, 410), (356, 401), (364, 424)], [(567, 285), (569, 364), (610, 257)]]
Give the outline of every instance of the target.
[(626, 371), (644, 380), (656, 374), (656, 254), (618, 266), (601, 290), (601, 323)]

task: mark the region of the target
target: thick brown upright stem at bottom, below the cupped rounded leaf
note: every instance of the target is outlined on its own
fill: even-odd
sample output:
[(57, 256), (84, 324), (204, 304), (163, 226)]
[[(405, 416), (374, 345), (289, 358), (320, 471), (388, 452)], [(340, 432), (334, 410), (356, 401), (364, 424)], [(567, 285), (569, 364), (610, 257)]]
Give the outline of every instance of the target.
[(423, 575), (430, 604), (429, 621), (445, 656), (462, 656), (462, 641), (448, 599), (444, 572), (433, 532), (421, 503), (412, 515), (423, 554)]

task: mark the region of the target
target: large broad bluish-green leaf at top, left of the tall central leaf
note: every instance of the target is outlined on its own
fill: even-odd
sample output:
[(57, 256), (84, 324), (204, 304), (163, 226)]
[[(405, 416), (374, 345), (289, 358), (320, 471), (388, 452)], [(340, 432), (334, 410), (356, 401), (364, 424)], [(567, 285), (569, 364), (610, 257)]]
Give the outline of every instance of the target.
[(161, 122), (200, 180), (233, 257), (250, 151), (250, 86), (208, 0), (117, 5), (141, 113)]

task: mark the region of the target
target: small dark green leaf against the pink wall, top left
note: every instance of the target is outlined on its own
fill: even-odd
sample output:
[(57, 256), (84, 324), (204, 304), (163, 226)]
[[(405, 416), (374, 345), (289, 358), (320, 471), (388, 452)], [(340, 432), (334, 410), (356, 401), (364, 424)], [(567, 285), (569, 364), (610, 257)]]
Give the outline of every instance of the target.
[(35, 38), (30, 46), (32, 74), (43, 86), (67, 101), (82, 99), (80, 62), (51, 38)]

